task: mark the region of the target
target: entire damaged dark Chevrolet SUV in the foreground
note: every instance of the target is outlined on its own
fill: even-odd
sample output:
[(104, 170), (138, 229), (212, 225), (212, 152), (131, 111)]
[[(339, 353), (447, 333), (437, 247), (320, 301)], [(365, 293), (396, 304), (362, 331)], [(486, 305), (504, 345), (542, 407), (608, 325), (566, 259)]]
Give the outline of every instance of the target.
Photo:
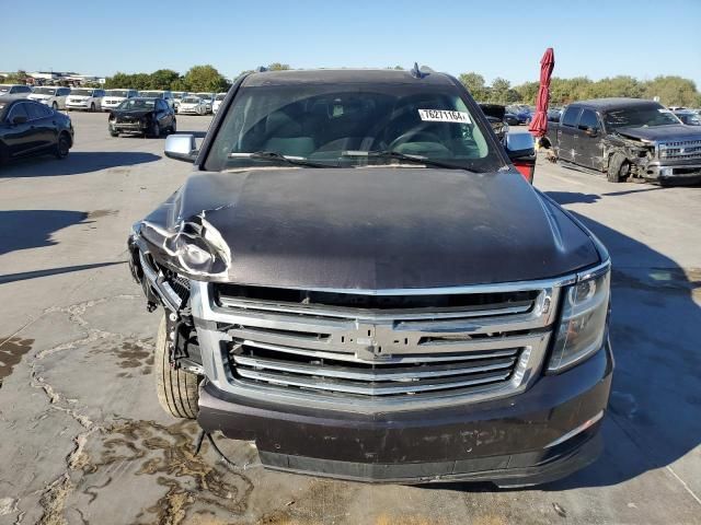
[(522, 486), (597, 457), (609, 256), (456, 79), (251, 73), (198, 151), (165, 153), (194, 172), (128, 244), (169, 413), (268, 468), (372, 482)]

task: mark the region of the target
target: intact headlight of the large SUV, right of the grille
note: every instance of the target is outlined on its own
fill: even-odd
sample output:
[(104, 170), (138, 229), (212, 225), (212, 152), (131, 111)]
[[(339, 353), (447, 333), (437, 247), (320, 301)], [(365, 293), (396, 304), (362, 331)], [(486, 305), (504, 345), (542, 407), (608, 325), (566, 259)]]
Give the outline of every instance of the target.
[(564, 289), (564, 304), (548, 370), (559, 372), (601, 348), (610, 295), (609, 269)]

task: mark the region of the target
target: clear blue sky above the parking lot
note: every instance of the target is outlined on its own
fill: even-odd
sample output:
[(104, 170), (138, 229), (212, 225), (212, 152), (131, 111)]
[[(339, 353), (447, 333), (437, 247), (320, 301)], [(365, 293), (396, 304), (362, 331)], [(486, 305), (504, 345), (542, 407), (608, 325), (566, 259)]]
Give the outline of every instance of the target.
[(701, 0), (208, 1), (0, 0), (0, 71), (181, 73), (210, 63), (233, 78), (294, 68), (414, 62), (518, 84), (556, 77), (689, 78), (701, 90)]

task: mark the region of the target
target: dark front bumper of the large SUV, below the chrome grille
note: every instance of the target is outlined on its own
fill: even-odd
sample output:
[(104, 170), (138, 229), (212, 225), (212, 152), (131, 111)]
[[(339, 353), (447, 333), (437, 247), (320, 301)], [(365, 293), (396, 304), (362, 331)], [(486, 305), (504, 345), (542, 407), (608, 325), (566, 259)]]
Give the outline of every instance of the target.
[(253, 440), (277, 470), (369, 482), (552, 481), (593, 463), (613, 361), (605, 347), (527, 392), (483, 402), (391, 413), (332, 411), (200, 388), (198, 422)]

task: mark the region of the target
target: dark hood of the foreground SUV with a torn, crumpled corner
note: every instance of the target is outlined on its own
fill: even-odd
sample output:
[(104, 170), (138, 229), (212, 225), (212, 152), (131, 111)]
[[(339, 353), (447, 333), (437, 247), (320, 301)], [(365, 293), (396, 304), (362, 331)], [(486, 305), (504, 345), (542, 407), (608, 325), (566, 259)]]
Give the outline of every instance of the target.
[(195, 279), (274, 287), (457, 287), (599, 261), (588, 234), (510, 171), (198, 172), (136, 232), (172, 268), (184, 238), (218, 250), (216, 271), (181, 270)]

